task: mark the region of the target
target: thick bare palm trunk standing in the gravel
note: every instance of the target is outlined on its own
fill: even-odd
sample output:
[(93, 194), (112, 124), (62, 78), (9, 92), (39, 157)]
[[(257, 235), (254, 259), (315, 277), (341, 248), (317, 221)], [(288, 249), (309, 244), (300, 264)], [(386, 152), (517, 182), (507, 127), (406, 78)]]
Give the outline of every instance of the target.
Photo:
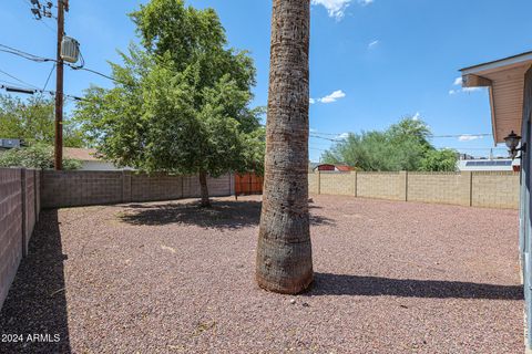
[(274, 0), (258, 285), (296, 294), (313, 282), (308, 216), (310, 0)]

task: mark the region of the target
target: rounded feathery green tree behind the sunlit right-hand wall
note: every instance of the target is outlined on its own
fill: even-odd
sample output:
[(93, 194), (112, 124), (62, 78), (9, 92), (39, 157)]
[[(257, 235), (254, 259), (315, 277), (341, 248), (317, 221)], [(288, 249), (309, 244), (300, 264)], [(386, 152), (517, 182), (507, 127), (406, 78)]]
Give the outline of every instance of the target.
[(405, 117), (385, 132), (349, 134), (323, 155), (328, 164), (347, 164), (362, 170), (420, 170), (431, 132), (427, 124)]

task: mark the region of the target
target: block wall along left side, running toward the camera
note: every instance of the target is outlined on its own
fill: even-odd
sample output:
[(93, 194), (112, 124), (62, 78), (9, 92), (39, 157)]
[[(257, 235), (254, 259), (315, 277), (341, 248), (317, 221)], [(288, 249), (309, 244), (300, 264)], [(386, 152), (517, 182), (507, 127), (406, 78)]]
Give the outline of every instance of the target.
[(39, 218), (39, 173), (0, 168), (0, 308)]

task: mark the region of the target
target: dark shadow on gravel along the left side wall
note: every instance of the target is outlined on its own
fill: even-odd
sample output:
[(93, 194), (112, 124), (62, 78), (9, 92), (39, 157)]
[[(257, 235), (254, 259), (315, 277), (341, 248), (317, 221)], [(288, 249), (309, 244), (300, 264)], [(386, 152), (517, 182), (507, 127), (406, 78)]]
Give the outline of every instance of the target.
[(71, 353), (65, 259), (58, 211), (43, 210), (0, 312), (0, 335), (22, 335), (22, 342), (0, 343), (0, 353)]

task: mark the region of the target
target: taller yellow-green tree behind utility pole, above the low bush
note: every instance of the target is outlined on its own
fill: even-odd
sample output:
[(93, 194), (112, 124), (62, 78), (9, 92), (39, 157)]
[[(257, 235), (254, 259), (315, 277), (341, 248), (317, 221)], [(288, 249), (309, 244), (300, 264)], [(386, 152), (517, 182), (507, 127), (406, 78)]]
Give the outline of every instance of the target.
[[(52, 145), (55, 136), (53, 112), (54, 102), (48, 97), (31, 96), (22, 101), (0, 95), (0, 138)], [(63, 122), (63, 140), (68, 147), (85, 145), (85, 137), (69, 116)]]

